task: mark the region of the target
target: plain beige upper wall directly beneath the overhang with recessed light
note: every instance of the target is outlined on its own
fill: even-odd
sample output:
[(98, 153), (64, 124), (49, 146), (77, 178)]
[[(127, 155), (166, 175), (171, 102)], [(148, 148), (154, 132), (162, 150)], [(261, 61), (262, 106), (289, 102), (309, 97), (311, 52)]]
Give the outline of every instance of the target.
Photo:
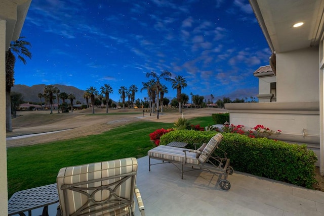
[(318, 47), (276, 53), (277, 102), (319, 101)]

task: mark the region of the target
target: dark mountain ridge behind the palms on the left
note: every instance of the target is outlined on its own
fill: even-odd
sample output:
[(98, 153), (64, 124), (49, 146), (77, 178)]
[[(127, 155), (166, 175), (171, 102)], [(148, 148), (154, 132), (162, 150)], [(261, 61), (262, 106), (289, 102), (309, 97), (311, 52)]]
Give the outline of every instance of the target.
[[(39, 84), (39, 85), (33, 85), (33, 86), (27, 86), (27, 85), (14, 85), (14, 87), (11, 88), (11, 92), (18, 92), (21, 93), (23, 96), (23, 100), (25, 102), (30, 102), (30, 103), (40, 103), (41, 100), (38, 97), (39, 93), (44, 94), (44, 87), (45, 84)], [(60, 89), (60, 92), (65, 92), (67, 94), (74, 94), (75, 95), (75, 100), (73, 100), (73, 103), (79, 100), (81, 103), (86, 103), (86, 99), (83, 98), (83, 94), (85, 90), (81, 90), (78, 88), (75, 88), (73, 86), (67, 86), (67, 85), (59, 85), (59, 84), (54, 84), (53, 86), (57, 87)], [(44, 103), (44, 98), (42, 98), (42, 101)], [(62, 101), (62, 100), (60, 100)], [(69, 101), (66, 101), (69, 102)], [(90, 100), (89, 100), (90, 102)]]

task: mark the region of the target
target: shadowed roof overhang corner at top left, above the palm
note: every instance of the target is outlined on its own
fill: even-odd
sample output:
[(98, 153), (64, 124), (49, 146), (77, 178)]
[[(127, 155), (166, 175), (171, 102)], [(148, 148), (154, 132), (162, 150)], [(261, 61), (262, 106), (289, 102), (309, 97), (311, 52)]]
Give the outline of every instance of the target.
[(0, 0), (0, 20), (6, 20), (6, 50), (18, 40), (31, 0)]

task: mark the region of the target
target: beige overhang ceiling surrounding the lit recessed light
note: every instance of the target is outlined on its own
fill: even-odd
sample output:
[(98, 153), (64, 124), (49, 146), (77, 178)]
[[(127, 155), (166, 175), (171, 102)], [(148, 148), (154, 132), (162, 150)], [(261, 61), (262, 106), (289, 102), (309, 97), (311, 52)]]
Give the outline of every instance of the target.
[[(318, 46), (324, 30), (323, 0), (249, 0), (272, 52)], [(294, 28), (293, 25), (304, 25)]]

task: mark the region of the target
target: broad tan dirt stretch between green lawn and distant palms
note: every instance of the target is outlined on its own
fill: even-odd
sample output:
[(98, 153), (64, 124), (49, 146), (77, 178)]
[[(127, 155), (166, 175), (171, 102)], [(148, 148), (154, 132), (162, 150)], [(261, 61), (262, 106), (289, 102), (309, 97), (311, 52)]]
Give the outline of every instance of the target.
[[(215, 108), (185, 109), (183, 110), (183, 114), (179, 114), (174, 110), (160, 113), (159, 119), (156, 119), (156, 114), (152, 114), (152, 116), (150, 116), (149, 113), (144, 113), (143, 117), (142, 110), (128, 109), (109, 110), (109, 113), (123, 114), (109, 116), (87, 116), (87, 114), (92, 113), (91, 109), (84, 111), (74, 111), (73, 113), (66, 114), (57, 114), (55, 111), (52, 115), (49, 114), (49, 111), (18, 112), (17, 115), (21, 116), (13, 119), (13, 132), (7, 133), (7, 137), (16, 137), (27, 134), (45, 133), (60, 130), (65, 131), (7, 140), (7, 147), (34, 145), (56, 140), (72, 139), (76, 137), (100, 134), (114, 127), (136, 121), (158, 121), (173, 123), (180, 117), (190, 119), (199, 116), (211, 116), (213, 113), (219, 112), (224, 112), (224, 110)], [(95, 113), (105, 113), (105, 109), (96, 108)]]

